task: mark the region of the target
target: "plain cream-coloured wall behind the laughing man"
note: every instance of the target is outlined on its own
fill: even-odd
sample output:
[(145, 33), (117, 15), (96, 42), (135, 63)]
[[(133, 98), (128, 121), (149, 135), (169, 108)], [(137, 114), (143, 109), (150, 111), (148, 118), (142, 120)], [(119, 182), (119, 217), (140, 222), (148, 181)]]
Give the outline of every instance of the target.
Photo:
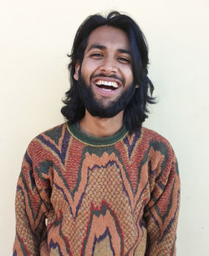
[(29, 141), (64, 122), (74, 34), (89, 14), (130, 14), (150, 46), (159, 103), (145, 126), (168, 138), (181, 172), (179, 256), (208, 255), (209, 2), (207, 0), (11, 0), (0, 8), (0, 255), (11, 255), (14, 197)]

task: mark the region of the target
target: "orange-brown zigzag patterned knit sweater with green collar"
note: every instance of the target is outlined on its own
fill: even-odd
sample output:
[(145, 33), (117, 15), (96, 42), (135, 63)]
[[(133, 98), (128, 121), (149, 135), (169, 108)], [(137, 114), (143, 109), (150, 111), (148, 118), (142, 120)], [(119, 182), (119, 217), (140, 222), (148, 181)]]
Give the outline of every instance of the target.
[(29, 144), (13, 255), (176, 255), (180, 180), (166, 138), (92, 138), (67, 123)]

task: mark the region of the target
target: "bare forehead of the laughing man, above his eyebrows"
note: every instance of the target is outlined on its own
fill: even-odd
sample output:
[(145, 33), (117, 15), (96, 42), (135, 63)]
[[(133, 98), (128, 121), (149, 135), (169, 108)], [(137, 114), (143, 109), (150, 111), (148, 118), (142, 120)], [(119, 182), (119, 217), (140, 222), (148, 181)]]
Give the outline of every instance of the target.
[(121, 29), (113, 28), (110, 26), (101, 26), (94, 29), (89, 34), (87, 50), (92, 44), (101, 44), (108, 47), (115, 47), (118, 49), (130, 49), (130, 43), (127, 35)]

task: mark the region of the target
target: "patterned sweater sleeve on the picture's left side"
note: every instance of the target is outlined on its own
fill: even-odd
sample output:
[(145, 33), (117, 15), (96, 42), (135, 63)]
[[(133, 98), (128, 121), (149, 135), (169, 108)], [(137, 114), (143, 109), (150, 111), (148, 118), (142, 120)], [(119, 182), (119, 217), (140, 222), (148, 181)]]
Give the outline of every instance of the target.
[(48, 181), (40, 174), (37, 155), (29, 149), (24, 155), (15, 199), (16, 236), (13, 256), (40, 255), (40, 243), (46, 231), (48, 212)]

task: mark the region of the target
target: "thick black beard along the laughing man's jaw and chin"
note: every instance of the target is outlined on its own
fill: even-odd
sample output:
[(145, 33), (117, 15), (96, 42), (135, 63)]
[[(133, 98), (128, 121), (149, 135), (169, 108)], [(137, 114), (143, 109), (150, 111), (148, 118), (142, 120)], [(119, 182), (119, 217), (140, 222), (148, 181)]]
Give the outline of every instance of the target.
[(125, 109), (135, 93), (135, 85), (131, 83), (119, 98), (110, 102), (108, 106), (104, 106), (103, 100), (98, 100), (94, 97), (91, 86), (86, 85), (82, 76), (79, 76), (77, 86), (79, 88), (79, 98), (83, 102), (84, 107), (93, 117), (99, 118), (115, 117), (115, 115)]

